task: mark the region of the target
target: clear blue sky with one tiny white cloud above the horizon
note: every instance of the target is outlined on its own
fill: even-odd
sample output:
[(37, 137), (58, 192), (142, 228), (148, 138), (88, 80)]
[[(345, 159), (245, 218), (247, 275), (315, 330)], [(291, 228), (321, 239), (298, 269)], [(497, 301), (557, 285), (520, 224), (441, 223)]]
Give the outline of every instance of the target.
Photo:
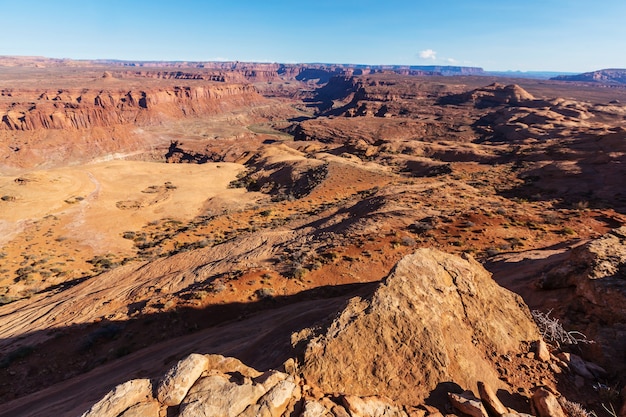
[(0, 0), (0, 55), (626, 68), (625, 0)]

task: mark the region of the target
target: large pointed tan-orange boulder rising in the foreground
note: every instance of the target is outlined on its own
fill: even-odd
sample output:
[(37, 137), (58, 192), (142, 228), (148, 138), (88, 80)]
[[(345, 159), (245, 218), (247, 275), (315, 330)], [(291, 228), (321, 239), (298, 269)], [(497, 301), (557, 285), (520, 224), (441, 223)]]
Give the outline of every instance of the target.
[(441, 382), (505, 388), (494, 361), (540, 338), (522, 299), (469, 256), (419, 249), (309, 341), (302, 373), (324, 392), (420, 404)]

